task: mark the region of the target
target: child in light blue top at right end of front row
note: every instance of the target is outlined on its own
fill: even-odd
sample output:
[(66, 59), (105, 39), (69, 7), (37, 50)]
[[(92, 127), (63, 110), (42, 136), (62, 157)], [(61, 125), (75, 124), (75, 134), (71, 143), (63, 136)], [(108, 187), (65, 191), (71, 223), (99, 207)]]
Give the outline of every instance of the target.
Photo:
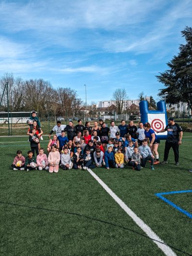
[(155, 170), (154, 169), (154, 156), (151, 152), (151, 148), (147, 145), (147, 140), (144, 139), (142, 142), (142, 146), (140, 146), (138, 148), (138, 151), (141, 155), (141, 166), (145, 167), (146, 163), (148, 160), (151, 161), (151, 170)]

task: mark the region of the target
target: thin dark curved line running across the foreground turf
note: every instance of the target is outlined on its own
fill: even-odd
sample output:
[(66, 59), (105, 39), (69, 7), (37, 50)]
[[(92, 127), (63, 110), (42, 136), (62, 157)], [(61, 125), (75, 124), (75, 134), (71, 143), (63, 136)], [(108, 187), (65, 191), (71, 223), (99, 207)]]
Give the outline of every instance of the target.
[(187, 253), (187, 252), (184, 252), (170, 244), (167, 244), (167, 243), (164, 243), (164, 242), (160, 242), (158, 240), (155, 240), (155, 239), (152, 239), (150, 237), (148, 237), (147, 235), (144, 235), (144, 234), (141, 234), (133, 229), (130, 229), (130, 228), (126, 228), (126, 227), (123, 227), (121, 225), (117, 225), (117, 224), (114, 224), (114, 223), (111, 223), (111, 222), (108, 222), (108, 221), (105, 221), (105, 220), (100, 220), (100, 219), (96, 219), (96, 218), (93, 218), (93, 217), (90, 217), (90, 216), (87, 216), (87, 215), (84, 215), (84, 214), (80, 214), (80, 213), (71, 213), (71, 212), (68, 212), (68, 211), (59, 211), (59, 210), (54, 210), (54, 209), (48, 209), (48, 208), (40, 208), (40, 207), (35, 207), (35, 206), (29, 206), (29, 205), (22, 205), (22, 204), (16, 204), (16, 203), (10, 203), (10, 202), (3, 202), (3, 201), (0, 201), (1, 204), (7, 204), (7, 205), (13, 205), (13, 206), (19, 206), (19, 207), (27, 207), (27, 208), (30, 208), (30, 209), (36, 209), (36, 210), (42, 210), (42, 211), (49, 211), (49, 212), (55, 212), (55, 213), (67, 213), (67, 214), (70, 214), (70, 215), (75, 215), (75, 216), (78, 216), (78, 217), (82, 217), (82, 218), (86, 218), (86, 219), (89, 219), (89, 220), (92, 220), (92, 221), (97, 221), (97, 222), (100, 222), (100, 223), (104, 223), (104, 224), (108, 224), (108, 225), (111, 225), (111, 226), (114, 226), (114, 227), (118, 227), (118, 228), (122, 228), (124, 230), (129, 230), (139, 236), (142, 236), (142, 237), (145, 237), (151, 241), (156, 241), (156, 242), (159, 242), (159, 243), (162, 243), (162, 244), (165, 244), (167, 246), (169, 246), (170, 248), (172, 249), (175, 249), (177, 250), (178, 252), (180, 253), (183, 253), (185, 255), (188, 255), (188, 256), (192, 256), (191, 254)]

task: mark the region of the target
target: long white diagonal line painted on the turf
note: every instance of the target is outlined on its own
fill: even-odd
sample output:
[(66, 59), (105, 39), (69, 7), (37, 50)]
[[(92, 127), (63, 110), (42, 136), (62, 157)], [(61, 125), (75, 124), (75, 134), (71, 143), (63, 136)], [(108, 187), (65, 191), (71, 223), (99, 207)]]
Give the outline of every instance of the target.
[(161, 240), (152, 229), (142, 221), (136, 213), (134, 213), (91, 169), (87, 171), (96, 179), (96, 181), (110, 194), (110, 196), (121, 206), (121, 208), (127, 213), (167, 256), (177, 256), (172, 249)]

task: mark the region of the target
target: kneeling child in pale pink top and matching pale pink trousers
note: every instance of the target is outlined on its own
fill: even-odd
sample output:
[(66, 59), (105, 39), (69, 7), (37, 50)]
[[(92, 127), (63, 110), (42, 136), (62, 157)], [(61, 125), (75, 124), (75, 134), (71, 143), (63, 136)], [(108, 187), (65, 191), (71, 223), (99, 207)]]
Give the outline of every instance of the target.
[(49, 163), (49, 172), (58, 172), (59, 171), (59, 161), (60, 161), (60, 153), (56, 151), (56, 145), (51, 146), (51, 152), (48, 156)]

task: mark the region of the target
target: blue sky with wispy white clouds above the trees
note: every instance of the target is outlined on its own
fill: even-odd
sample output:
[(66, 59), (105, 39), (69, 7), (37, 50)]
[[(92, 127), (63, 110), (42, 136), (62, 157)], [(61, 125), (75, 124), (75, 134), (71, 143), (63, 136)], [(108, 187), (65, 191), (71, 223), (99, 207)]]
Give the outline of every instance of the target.
[(43, 78), (75, 89), (87, 102), (158, 100), (155, 75), (184, 43), (191, 0), (31, 0), (0, 2), (0, 76)]

